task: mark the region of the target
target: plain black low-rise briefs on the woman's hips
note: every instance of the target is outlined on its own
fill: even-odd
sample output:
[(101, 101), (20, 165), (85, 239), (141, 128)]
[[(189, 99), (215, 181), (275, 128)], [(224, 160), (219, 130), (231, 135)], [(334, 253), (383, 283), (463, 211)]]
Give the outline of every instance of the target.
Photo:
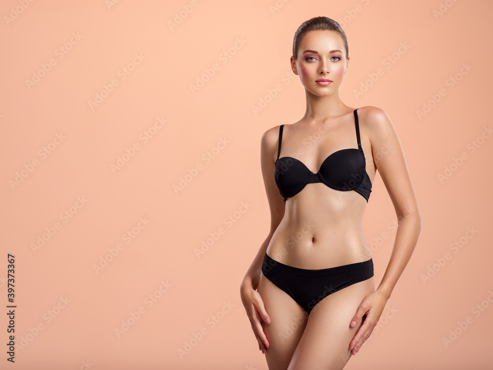
[(265, 253), (262, 273), (310, 315), (326, 296), (373, 276), (373, 259), (337, 267), (311, 270), (288, 266)]

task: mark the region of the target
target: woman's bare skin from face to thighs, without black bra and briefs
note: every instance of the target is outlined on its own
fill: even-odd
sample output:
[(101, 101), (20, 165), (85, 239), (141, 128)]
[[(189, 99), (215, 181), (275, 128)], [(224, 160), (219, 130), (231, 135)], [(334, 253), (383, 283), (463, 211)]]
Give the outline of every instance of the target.
[[(339, 34), (327, 30), (306, 34), (297, 60), (291, 56), (292, 71), (300, 76), (306, 90), (307, 110), (300, 121), (284, 125), (281, 156), (294, 156), (300, 148), (305, 149), (296, 157), (312, 172), (317, 172), (328, 154), (356, 147), (354, 109), (339, 98), (349, 61)], [(318, 78), (332, 82), (320, 86), (315, 82)], [(310, 316), (261, 273), (264, 254), (309, 269), (370, 259), (361, 230), (366, 200), (355, 191), (337, 191), (314, 183), (284, 204), (274, 178), (279, 126), (262, 135), (261, 170), (271, 225), (240, 293), (270, 370), (343, 369), (376, 327), (416, 246), (421, 217), (397, 133), (387, 113), (379, 108), (359, 108), (358, 117), (366, 171), (372, 183), (376, 171), (380, 172), (395, 209), (395, 242), (376, 290), (373, 277), (353, 284), (323, 298)], [(322, 124), (325, 130), (320, 130)], [(321, 134), (315, 136), (317, 133)], [(319, 138), (312, 145), (302, 144), (313, 137)], [(286, 245), (291, 246), (289, 251)]]

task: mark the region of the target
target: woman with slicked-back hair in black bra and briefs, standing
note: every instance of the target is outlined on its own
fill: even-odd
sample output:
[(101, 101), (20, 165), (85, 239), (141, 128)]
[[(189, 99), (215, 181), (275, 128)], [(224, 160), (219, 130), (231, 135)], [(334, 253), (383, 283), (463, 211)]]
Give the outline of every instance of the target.
[[(271, 228), (241, 297), (270, 370), (343, 369), (377, 325), (421, 230), (387, 113), (353, 109), (339, 98), (349, 61), (337, 22), (304, 22), (294, 36), (291, 67), (305, 87), (305, 115), (261, 138)], [(377, 169), (398, 228), (375, 290), (361, 221)]]

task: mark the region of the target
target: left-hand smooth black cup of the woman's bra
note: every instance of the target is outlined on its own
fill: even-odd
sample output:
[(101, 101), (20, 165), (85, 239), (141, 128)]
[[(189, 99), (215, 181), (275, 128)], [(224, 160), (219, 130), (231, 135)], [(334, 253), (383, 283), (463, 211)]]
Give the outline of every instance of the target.
[(282, 194), (301, 190), (311, 175), (312, 172), (296, 158), (282, 157), (276, 162), (274, 178)]

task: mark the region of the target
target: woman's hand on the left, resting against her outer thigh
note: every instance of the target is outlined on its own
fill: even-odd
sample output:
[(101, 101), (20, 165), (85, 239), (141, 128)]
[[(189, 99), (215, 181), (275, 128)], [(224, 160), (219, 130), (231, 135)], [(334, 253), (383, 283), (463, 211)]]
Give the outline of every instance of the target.
[(271, 323), (269, 315), (265, 311), (264, 302), (260, 297), (260, 294), (252, 287), (243, 287), (240, 290), (242, 296), (242, 302), (245, 306), (246, 314), (250, 320), (251, 329), (255, 334), (255, 338), (258, 342), (258, 349), (265, 353), (269, 348), (269, 341), (265, 336), (262, 328), (261, 320), (264, 320), (267, 324)]

